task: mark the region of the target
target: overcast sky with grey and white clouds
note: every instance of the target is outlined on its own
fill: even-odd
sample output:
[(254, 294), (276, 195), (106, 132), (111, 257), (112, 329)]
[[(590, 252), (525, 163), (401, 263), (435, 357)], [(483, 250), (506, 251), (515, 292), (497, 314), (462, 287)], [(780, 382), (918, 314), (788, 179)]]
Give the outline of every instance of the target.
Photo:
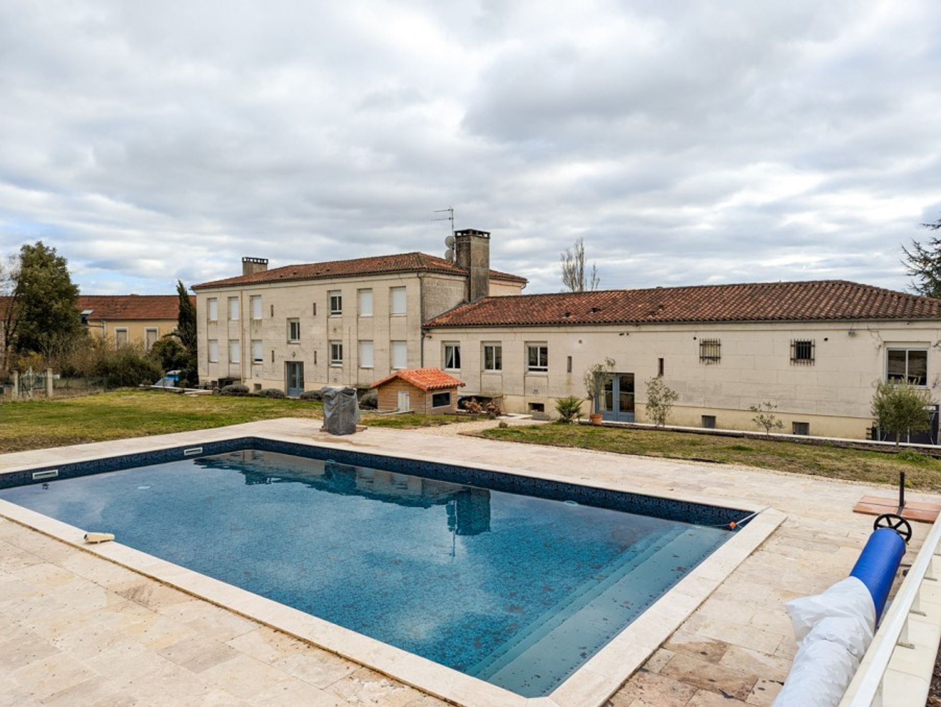
[[(569, 6), (568, 8), (560, 6)], [(941, 218), (941, 3), (0, 3), (0, 255), (86, 293), (443, 254), (558, 290), (906, 287)]]

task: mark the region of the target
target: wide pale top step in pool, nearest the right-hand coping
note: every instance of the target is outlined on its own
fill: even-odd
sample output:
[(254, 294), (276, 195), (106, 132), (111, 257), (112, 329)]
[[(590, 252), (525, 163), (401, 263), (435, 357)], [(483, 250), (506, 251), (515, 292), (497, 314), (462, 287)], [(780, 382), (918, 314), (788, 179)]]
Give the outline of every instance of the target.
[[(509, 690), (550, 690), (660, 597), (664, 575), (678, 579), (709, 555), (716, 542), (713, 533), (689, 528), (667, 542), (650, 544), (598, 583), (597, 591), (584, 591), (580, 601), (534, 621), (532, 630), (503, 646), (499, 655), (488, 656), (471, 674)], [(685, 571), (677, 572), (678, 567)]]

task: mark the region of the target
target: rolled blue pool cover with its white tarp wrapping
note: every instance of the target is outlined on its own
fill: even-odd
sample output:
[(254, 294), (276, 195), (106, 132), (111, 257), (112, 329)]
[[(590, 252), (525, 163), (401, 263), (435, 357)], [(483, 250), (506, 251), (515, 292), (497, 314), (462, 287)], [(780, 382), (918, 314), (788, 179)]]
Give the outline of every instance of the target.
[(773, 707), (836, 707), (872, 642), (905, 542), (890, 528), (870, 536), (853, 571), (822, 594), (788, 603), (798, 650)]

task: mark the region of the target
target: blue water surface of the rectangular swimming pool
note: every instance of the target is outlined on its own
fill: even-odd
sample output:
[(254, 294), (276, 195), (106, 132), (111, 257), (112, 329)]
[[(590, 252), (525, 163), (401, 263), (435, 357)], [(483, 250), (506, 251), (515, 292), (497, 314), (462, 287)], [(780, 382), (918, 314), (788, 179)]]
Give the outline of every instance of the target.
[(257, 449), (0, 498), (525, 697), (550, 694), (729, 535)]

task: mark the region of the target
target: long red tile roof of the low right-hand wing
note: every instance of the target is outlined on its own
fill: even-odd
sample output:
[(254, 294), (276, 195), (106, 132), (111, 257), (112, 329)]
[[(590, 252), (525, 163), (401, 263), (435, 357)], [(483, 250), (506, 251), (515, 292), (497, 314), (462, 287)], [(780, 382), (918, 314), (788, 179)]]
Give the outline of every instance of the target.
[(845, 280), (521, 294), (456, 306), (426, 326), (941, 320), (941, 300)]

